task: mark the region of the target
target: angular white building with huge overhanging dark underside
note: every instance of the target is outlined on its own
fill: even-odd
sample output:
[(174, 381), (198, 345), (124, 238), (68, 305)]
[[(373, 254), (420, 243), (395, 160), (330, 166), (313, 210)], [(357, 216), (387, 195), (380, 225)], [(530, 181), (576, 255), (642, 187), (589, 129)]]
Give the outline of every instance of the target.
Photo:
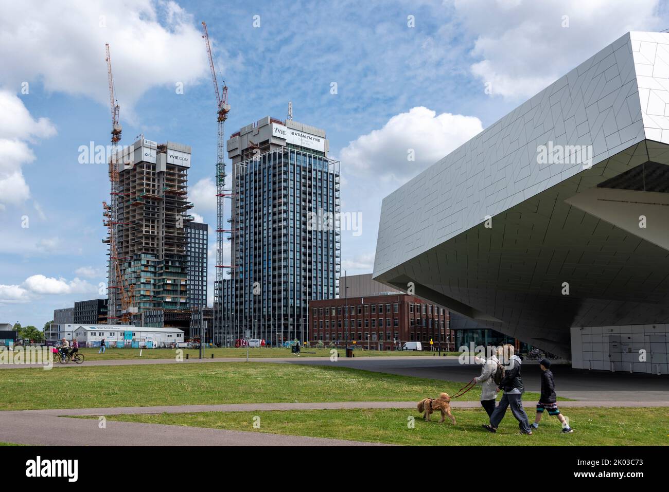
[(563, 355), (668, 322), (668, 116), (669, 33), (624, 35), (386, 197), (375, 279)]

